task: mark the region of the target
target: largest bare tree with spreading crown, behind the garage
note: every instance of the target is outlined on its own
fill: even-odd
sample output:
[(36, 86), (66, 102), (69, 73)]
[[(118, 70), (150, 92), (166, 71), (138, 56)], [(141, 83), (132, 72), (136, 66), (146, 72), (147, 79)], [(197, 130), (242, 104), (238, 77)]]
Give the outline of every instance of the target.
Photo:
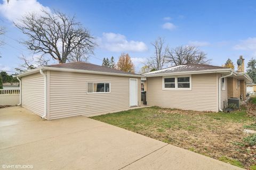
[(75, 16), (54, 11), (43, 11), (43, 15), (30, 13), (14, 23), (28, 40), (22, 43), (34, 53), (48, 54), (59, 63), (66, 63), (76, 48), (93, 53), (94, 37), (82, 24), (75, 21)]

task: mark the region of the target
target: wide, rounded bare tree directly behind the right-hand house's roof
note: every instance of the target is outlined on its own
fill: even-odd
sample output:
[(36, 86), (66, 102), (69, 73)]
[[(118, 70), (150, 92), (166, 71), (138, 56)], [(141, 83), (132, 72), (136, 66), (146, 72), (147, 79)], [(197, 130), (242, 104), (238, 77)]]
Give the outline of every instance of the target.
[(206, 53), (194, 46), (179, 46), (168, 49), (166, 54), (166, 62), (172, 65), (181, 65), (189, 63), (208, 64)]

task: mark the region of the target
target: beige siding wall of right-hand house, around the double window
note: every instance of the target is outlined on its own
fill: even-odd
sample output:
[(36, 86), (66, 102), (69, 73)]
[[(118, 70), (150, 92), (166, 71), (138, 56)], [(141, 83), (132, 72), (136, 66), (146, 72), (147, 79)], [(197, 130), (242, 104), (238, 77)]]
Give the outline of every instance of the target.
[(191, 90), (163, 90), (162, 78), (147, 78), (148, 105), (195, 111), (218, 111), (218, 86), (215, 73), (191, 75)]

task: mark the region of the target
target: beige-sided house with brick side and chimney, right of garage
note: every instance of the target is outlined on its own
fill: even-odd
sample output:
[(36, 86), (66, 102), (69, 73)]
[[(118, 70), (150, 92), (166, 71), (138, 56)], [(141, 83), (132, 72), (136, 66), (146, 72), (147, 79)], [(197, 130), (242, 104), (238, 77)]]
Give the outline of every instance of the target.
[[(244, 62), (244, 60), (243, 60)], [(246, 96), (251, 78), (244, 72), (205, 64), (184, 64), (143, 74), (147, 104), (194, 111), (222, 111), (229, 98)]]

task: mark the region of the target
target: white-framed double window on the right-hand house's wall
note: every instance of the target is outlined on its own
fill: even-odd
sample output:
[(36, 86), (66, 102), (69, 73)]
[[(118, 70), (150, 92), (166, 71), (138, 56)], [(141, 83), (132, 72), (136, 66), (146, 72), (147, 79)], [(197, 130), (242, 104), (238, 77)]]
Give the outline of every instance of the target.
[(191, 75), (163, 77), (163, 90), (191, 90)]

